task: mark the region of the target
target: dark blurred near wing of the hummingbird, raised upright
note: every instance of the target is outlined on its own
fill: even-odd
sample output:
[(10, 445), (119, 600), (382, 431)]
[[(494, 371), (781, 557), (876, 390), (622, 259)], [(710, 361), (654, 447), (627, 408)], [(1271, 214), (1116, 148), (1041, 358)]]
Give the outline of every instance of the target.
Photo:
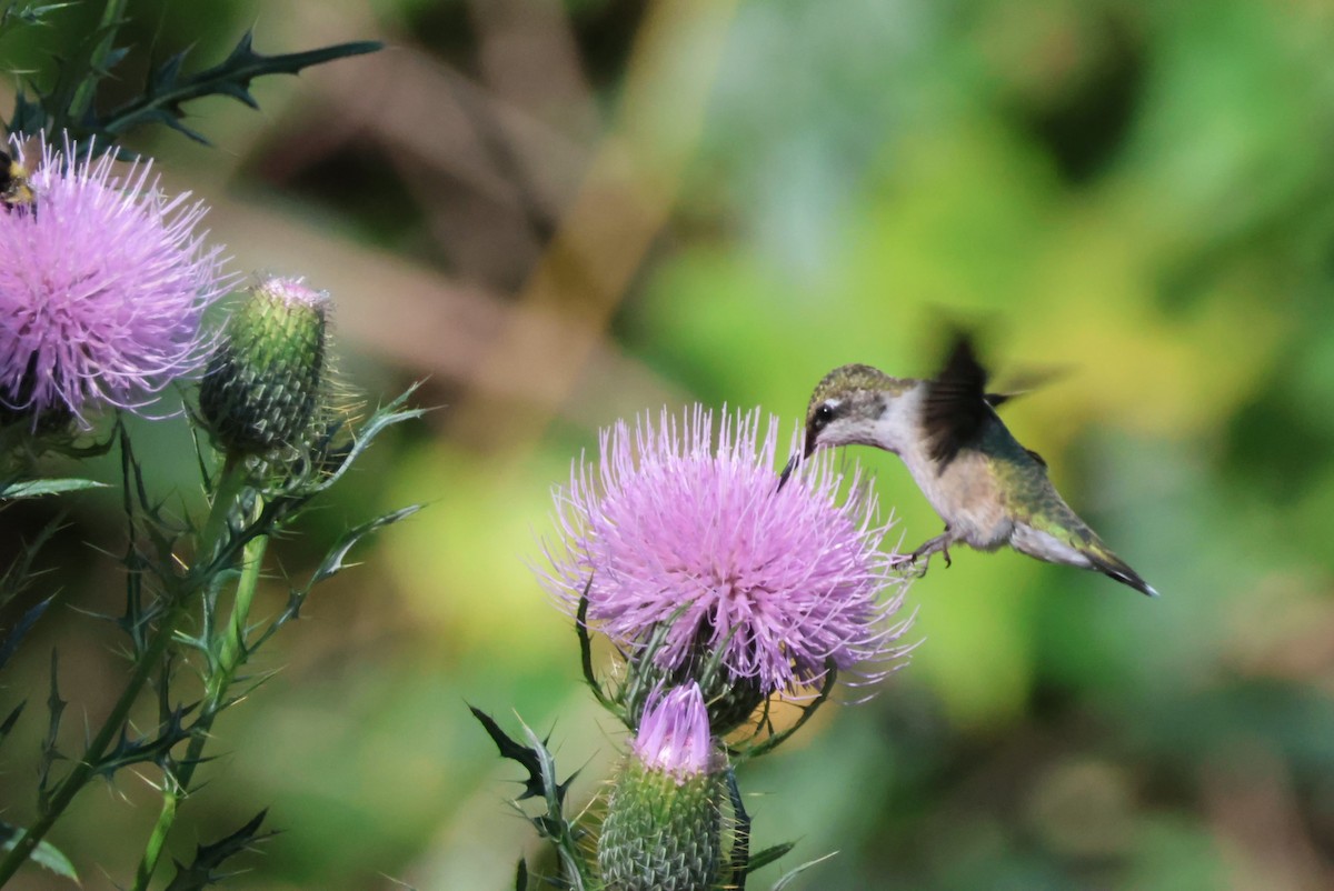
[[(996, 396), (991, 395), (991, 399)], [(922, 424), (936, 470), (944, 470), (960, 448), (976, 444), (992, 419), (995, 412), (987, 396), (987, 369), (978, 361), (972, 340), (960, 333), (944, 367), (926, 384)]]

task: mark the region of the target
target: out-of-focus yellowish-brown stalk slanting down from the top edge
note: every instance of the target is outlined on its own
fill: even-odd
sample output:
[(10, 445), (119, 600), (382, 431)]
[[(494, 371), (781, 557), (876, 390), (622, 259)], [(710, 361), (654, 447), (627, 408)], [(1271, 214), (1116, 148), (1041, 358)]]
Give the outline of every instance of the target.
[[(519, 295), (518, 311), (472, 369), (470, 391), (451, 413), (454, 429), (492, 446), (530, 441), (568, 399), (670, 219), (732, 7), (659, 0), (650, 9), (612, 129)], [(514, 392), (527, 392), (535, 408), (516, 411), (498, 399)]]

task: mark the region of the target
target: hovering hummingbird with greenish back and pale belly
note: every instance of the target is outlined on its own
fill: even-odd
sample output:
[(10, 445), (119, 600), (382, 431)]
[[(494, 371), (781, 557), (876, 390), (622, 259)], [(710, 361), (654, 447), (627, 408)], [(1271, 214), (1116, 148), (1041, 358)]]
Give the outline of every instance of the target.
[[(930, 380), (891, 377), (871, 365), (835, 368), (811, 395), (802, 458), (822, 447), (862, 444), (903, 459), (944, 520), (944, 532), (912, 552), (914, 563), (930, 563), (939, 551), (948, 567), (950, 546), (956, 543), (978, 551), (1009, 544), (1158, 596), (1066, 504), (1042, 456), (1015, 440), (995, 411), (1013, 393), (987, 392), (987, 379), (972, 339), (963, 332)], [(779, 488), (796, 463), (794, 455)]]

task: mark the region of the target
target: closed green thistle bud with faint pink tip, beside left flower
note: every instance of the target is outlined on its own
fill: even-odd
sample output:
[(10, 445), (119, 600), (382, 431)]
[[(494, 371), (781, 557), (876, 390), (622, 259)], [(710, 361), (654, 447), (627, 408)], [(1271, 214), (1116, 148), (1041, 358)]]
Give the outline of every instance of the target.
[(328, 397), (328, 295), (268, 279), (232, 313), (208, 360), (199, 409), (228, 452), (268, 456), (300, 446)]

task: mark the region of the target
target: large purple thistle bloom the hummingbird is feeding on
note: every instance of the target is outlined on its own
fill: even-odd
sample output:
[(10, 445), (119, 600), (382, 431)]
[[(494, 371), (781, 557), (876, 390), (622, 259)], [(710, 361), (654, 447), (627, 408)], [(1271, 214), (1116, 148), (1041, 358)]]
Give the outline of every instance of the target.
[[(888, 624), (907, 583), (902, 558), (879, 551), (874, 498), (839, 503), (827, 459), (779, 490), (778, 421), (760, 437), (758, 411), (724, 417), (716, 450), (712, 431), (698, 405), (603, 431), (600, 467), (579, 462), (556, 492), (564, 552), (547, 550), (546, 587), (571, 612), (587, 587), (590, 623), (632, 660), (667, 627), (652, 658), (668, 672), (720, 650), (762, 695), (799, 695), (827, 662), (883, 676), (911, 620)], [(880, 599), (887, 586), (898, 592)]]

